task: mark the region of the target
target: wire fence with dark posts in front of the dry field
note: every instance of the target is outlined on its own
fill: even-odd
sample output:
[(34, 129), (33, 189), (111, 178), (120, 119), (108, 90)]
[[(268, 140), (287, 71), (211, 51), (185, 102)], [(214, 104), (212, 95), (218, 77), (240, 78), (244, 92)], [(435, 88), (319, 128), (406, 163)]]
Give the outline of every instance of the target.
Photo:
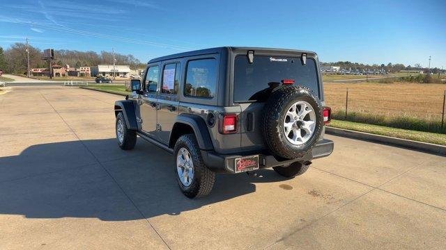
[[(443, 93), (442, 93), (443, 92)], [(325, 103), (335, 116), (348, 119), (352, 113), (383, 117), (410, 117), (445, 124), (446, 90), (439, 94), (420, 92), (360, 91), (331, 88), (325, 91)], [(342, 117), (344, 116), (344, 117)]]

